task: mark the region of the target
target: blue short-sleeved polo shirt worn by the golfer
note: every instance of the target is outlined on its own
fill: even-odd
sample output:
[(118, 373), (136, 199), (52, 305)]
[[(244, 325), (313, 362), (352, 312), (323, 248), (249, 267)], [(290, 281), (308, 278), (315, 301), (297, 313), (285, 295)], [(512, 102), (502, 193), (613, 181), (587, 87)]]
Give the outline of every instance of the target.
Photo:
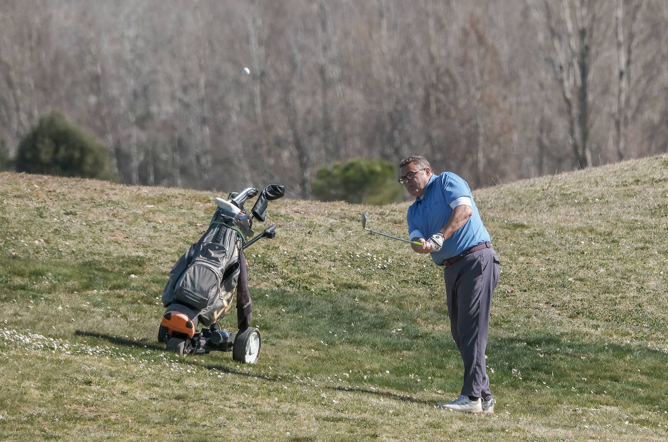
[(462, 196), (468, 196), (471, 199), (473, 214), (464, 226), (443, 242), (441, 250), (431, 253), (436, 264), (441, 264), (444, 260), (480, 242), (490, 241), (490, 234), (482, 224), (471, 189), (466, 181), (452, 172), (443, 172), (438, 176), (432, 175), (422, 198), (415, 198), (415, 202), (408, 208), (406, 214), (408, 232), (419, 230), (423, 238), (429, 239), (450, 219), (453, 210), (450, 203)]

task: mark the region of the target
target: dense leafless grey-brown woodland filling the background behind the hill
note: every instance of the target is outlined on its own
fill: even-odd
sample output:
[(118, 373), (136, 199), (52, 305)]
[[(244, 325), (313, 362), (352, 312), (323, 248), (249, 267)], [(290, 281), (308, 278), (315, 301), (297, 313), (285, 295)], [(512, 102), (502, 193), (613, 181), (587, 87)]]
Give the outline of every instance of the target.
[(308, 198), (323, 165), (416, 153), (486, 186), (665, 149), (667, 15), (641, 0), (5, 0), (0, 139), (13, 152), (57, 109), (127, 183), (272, 180)]

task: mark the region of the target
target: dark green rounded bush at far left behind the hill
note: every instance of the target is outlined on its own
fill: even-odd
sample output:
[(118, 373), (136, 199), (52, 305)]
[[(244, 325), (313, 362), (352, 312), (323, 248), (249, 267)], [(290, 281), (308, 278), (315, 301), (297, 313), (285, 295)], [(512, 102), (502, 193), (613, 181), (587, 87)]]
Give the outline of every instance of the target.
[(41, 117), (21, 140), (15, 165), (31, 174), (110, 178), (104, 144), (59, 112)]

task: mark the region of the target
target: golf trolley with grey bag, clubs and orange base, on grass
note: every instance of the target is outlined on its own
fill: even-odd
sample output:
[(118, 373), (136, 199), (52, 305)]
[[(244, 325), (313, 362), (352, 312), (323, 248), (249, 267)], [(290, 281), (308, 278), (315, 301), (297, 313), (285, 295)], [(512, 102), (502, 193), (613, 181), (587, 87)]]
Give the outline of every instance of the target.
[[(257, 362), (262, 339), (260, 331), (249, 323), (251, 299), (243, 250), (261, 238), (275, 238), (276, 225), (272, 224), (246, 241), (253, 236), (253, 219), (265, 221), (267, 202), (284, 194), (283, 186), (270, 184), (262, 192), (244, 188), (226, 200), (216, 198), (218, 208), (208, 229), (174, 264), (162, 293), (166, 312), (158, 328), (158, 341), (165, 343), (168, 351), (178, 355), (231, 351), (234, 361)], [(246, 214), (244, 202), (255, 196), (257, 201)], [(243, 300), (240, 290), (244, 292)], [(236, 334), (221, 330), (218, 325), (218, 320), (230, 310), (235, 291), (239, 318)], [(199, 326), (202, 328), (197, 331)]]

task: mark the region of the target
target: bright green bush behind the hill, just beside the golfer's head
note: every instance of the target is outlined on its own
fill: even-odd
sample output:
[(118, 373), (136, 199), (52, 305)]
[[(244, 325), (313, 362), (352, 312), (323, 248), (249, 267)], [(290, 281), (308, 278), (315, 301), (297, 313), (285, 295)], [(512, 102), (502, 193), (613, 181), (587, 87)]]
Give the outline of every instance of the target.
[(403, 186), (396, 179), (396, 168), (388, 161), (355, 159), (320, 168), (311, 193), (320, 201), (382, 206), (401, 201)]

